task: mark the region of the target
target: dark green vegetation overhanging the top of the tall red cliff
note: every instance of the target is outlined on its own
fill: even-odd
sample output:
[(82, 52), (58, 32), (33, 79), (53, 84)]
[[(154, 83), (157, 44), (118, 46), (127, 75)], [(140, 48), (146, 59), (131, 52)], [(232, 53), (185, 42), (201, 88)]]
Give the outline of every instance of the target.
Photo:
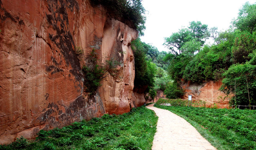
[(142, 6), (142, 0), (90, 0), (93, 6), (103, 5), (107, 13), (113, 18), (126, 23), (133, 23), (132, 28), (139, 31), (139, 35), (144, 35), (145, 27), (145, 9)]

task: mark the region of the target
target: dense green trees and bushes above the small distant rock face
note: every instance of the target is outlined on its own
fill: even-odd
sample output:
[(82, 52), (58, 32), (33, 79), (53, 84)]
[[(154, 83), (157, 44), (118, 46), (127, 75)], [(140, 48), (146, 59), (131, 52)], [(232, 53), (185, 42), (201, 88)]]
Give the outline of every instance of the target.
[[(165, 56), (170, 62), (168, 74), (175, 84), (181, 79), (223, 79), (221, 90), (233, 93), (232, 105), (256, 105), (256, 3), (244, 4), (232, 24), (233, 28), (219, 33), (193, 21), (166, 37), (164, 45), (171, 50)], [(216, 44), (205, 45), (209, 37)]]

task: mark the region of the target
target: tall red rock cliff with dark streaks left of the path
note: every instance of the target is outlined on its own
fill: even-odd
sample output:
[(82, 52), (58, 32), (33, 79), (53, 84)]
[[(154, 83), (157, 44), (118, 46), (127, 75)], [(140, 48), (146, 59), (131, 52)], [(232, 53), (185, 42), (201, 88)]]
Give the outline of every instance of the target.
[[(144, 103), (134, 95), (137, 31), (88, 0), (0, 0), (0, 144)], [(95, 49), (120, 62), (96, 95), (81, 67)], [(79, 52), (78, 52), (79, 50)]]

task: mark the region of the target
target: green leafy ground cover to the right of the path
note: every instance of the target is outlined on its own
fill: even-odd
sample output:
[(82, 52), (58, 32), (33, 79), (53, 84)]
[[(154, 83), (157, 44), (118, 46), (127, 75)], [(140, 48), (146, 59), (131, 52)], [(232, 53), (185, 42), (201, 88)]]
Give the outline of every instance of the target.
[(183, 117), (218, 150), (256, 150), (255, 110), (155, 107)]

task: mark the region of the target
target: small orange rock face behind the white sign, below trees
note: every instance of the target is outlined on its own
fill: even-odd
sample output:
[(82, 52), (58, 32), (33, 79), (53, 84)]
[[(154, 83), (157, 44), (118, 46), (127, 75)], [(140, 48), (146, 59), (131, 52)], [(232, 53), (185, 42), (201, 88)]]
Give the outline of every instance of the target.
[(187, 82), (181, 85), (185, 90), (182, 98), (188, 99), (188, 95), (192, 95), (192, 99), (194, 100), (204, 100), (206, 107), (213, 107), (215, 104), (218, 108), (228, 108), (230, 97), (218, 90), (221, 85), (221, 81), (208, 81), (200, 85)]

